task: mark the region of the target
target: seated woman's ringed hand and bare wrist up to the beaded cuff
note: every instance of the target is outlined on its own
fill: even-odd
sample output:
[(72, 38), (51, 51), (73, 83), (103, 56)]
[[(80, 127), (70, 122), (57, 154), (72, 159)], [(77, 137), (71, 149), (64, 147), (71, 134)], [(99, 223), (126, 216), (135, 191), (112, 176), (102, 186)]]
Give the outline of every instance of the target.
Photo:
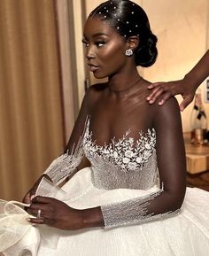
[(35, 217), (38, 216), (38, 218), (28, 219), (31, 223), (46, 224), (58, 229), (77, 230), (104, 226), (99, 206), (77, 210), (55, 198), (40, 196), (33, 198), (27, 213), (33, 214)]

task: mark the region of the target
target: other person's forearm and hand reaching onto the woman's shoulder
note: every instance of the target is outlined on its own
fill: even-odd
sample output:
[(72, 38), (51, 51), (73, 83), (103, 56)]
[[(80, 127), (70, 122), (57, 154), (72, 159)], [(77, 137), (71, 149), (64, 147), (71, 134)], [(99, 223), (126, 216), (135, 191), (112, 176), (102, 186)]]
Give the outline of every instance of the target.
[(182, 95), (182, 103), (180, 110), (183, 111), (187, 105), (189, 105), (197, 87), (205, 80), (209, 75), (209, 50), (205, 52), (205, 55), (198, 61), (188, 74), (184, 76), (182, 80), (156, 82), (148, 86), (151, 89), (151, 94), (147, 97), (147, 101), (153, 104), (159, 99), (159, 105), (163, 105), (167, 99), (174, 95)]

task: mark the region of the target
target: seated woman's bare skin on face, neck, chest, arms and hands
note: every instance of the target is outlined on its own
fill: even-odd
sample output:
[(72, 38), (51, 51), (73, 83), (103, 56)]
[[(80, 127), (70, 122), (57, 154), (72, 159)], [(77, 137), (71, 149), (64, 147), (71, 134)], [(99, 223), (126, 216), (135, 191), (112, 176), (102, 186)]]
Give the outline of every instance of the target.
[[(172, 99), (161, 108), (147, 104), (147, 86), (150, 82), (138, 74), (135, 57), (125, 55), (126, 50), (135, 50), (140, 43), (136, 36), (125, 40), (105, 21), (89, 18), (84, 28), (83, 42), (86, 45), (87, 63), (93, 65), (90, 70), (95, 77), (108, 77), (109, 80), (87, 91), (67, 147), (70, 149), (81, 136), (87, 114), (91, 117), (90, 129), (94, 138), (101, 145), (109, 144), (113, 136), (119, 139), (128, 129), (131, 130), (130, 136), (136, 140), (138, 131), (146, 132), (154, 127), (159, 137), (159, 176), (165, 183), (165, 191), (153, 200), (149, 211), (164, 213), (180, 207), (185, 192), (185, 154), (176, 101)], [(166, 144), (162, 143), (165, 139)], [(32, 190), (32, 193), (31, 190), (27, 193), (24, 202), (30, 202), (35, 188)], [(156, 206), (158, 210), (153, 211)], [(100, 206), (78, 210), (54, 198), (36, 197), (32, 199), (28, 213), (36, 215), (38, 209), (42, 210), (43, 218), (30, 219), (32, 223), (44, 223), (66, 230), (104, 226)]]

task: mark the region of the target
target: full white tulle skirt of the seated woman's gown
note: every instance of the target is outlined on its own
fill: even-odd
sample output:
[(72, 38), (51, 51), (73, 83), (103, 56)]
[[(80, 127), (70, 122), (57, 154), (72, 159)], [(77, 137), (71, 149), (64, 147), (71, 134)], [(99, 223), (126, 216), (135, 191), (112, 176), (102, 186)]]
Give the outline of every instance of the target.
[[(87, 167), (74, 175), (62, 190), (66, 191), (63, 198), (66, 204), (77, 209), (85, 209), (143, 197), (157, 191), (158, 188), (155, 186), (151, 190), (99, 190), (92, 184), (91, 168)], [(21, 246), (25, 243), (27, 250), (25, 249), (25, 254), (17, 255), (206, 256), (209, 255), (209, 193), (205, 190), (187, 188), (181, 213), (142, 225), (79, 231), (64, 231), (46, 226), (42, 226), (42, 229), (43, 236), (42, 232), (40, 236), (40, 228), (33, 227), (22, 237), (19, 243)], [(50, 236), (56, 237), (54, 246), (53, 239), (42, 239)], [(32, 250), (29, 249), (30, 246)], [(10, 254), (13, 252), (6, 251), (5, 255), (13, 256), (15, 254)]]

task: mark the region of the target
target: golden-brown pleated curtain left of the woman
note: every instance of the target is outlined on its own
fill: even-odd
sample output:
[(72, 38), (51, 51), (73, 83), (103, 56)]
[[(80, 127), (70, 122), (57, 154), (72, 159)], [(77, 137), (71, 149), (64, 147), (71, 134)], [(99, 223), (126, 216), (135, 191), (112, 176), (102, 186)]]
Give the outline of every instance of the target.
[(21, 199), (64, 148), (55, 5), (0, 0), (0, 198)]

